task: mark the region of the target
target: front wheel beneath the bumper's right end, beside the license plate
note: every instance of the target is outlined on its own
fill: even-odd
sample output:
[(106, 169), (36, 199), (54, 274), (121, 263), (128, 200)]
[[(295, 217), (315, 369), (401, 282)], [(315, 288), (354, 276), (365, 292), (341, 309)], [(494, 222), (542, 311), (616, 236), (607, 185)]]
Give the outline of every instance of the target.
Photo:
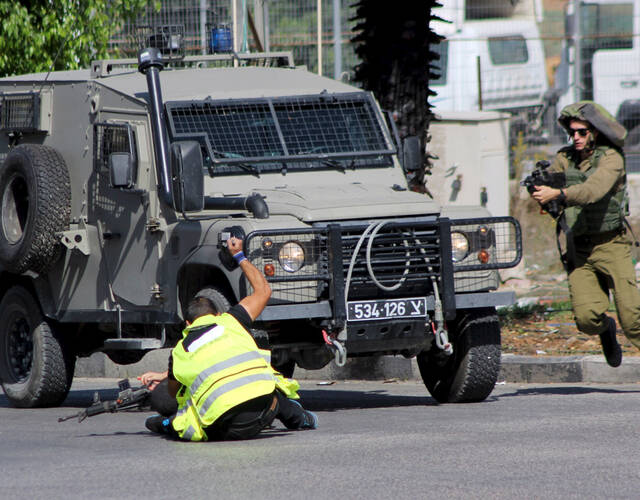
[(483, 401), (500, 372), (500, 323), (494, 308), (461, 311), (449, 328), (453, 354), (418, 354), (420, 375), (439, 403)]

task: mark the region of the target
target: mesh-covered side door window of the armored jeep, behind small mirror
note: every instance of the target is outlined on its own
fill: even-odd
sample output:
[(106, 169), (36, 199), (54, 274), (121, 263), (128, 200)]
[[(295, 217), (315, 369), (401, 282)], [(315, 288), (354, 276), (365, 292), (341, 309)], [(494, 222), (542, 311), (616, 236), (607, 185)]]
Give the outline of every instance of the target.
[(133, 128), (126, 123), (97, 123), (93, 138), (96, 173), (108, 176), (113, 187), (133, 187), (138, 172)]

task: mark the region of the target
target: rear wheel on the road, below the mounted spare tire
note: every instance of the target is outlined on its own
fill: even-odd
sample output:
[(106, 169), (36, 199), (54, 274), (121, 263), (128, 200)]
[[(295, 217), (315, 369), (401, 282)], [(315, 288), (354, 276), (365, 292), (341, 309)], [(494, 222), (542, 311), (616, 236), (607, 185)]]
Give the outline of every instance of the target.
[(57, 406), (67, 397), (75, 356), (47, 322), (36, 300), (22, 286), (0, 302), (0, 380), (19, 408)]

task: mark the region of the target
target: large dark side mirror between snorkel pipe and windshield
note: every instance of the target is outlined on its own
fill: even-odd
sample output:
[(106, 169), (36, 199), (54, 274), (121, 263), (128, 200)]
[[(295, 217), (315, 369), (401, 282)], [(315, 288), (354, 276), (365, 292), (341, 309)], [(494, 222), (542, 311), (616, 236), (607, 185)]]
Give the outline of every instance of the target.
[(204, 208), (202, 151), (196, 141), (171, 145), (171, 192), (173, 208), (179, 212), (197, 212)]

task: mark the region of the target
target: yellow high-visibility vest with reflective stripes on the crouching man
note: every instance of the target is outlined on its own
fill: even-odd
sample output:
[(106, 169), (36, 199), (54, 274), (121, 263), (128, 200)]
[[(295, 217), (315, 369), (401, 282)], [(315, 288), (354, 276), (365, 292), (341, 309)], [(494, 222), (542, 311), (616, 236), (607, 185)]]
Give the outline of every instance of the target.
[(273, 368), (230, 314), (197, 318), (183, 331), (172, 357), (173, 374), (183, 386), (172, 425), (185, 440), (206, 441), (204, 427), (276, 388)]

